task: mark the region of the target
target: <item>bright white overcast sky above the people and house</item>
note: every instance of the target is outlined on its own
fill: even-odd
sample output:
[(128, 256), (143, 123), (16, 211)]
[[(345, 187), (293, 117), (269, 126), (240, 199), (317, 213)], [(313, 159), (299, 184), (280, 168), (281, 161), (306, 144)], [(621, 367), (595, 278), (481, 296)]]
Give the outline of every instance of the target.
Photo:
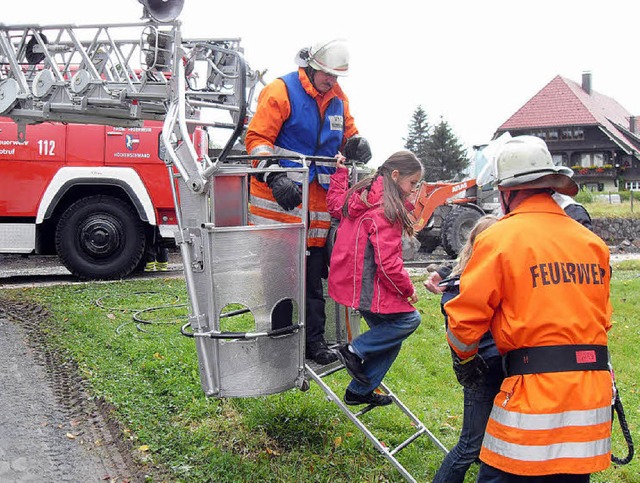
[[(27, 0), (4, 24), (135, 22), (136, 0)], [(553, 77), (592, 88), (640, 115), (640, 2), (538, 0), (185, 0), (185, 37), (240, 37), (252, 68), (272, 80), (295, 69), (300, 47), (342, 37), (350, 74), (340, 80), (378, 164), (402, 149), (418, 105), (471, 148)]]

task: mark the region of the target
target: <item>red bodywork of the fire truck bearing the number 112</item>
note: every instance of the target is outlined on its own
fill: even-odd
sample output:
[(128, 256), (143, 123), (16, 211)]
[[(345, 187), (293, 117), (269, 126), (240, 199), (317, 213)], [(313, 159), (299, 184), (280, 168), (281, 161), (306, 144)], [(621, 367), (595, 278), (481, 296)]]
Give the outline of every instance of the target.
[(160, 122), (147, 122), (142, 128), (43, 123), (27, 126), (25, 141), (19, 142), (17, 125), (0, 118), (0, 217), (35, 217), (62, 167), (132, 168), (156, 214), (173, 210), (168, 171), (158, 157), (161, 131)]

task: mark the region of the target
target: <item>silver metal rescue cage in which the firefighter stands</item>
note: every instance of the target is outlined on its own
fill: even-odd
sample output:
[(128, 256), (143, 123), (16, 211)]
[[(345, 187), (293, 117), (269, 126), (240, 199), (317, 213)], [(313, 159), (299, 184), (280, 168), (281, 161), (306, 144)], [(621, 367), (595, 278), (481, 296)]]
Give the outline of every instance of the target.
[[(189, 234), (190, 326), (204, 392), (216, 397), (262, 396), (304, 381), (305, 251), (308, 183), (300, 223), (249, 224), (251, 176), (281, 168), (221, 166), (205, 196), (179, 192), (183, 232)], [(289, 170), (291, 171), (291, 170)], [(308, 178), (306, 166), (298, 169)], [(207, 220), (203, 222), (202, 220)], [(276, 310), (292, 308), (280, 327)], [(225, 330), (244, 314), (252, 327)]]

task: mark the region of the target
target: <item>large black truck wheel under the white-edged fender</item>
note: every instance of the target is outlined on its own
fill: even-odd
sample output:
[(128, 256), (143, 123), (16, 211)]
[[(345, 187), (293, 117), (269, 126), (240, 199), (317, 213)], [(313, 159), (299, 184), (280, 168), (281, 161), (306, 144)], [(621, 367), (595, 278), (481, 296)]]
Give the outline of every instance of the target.
[(58, 256), (80, 278), (126, 277), (144, 256), (145, 245), (138, 214), (113, 196), (76, 201), (62, 214), (56, 229)]

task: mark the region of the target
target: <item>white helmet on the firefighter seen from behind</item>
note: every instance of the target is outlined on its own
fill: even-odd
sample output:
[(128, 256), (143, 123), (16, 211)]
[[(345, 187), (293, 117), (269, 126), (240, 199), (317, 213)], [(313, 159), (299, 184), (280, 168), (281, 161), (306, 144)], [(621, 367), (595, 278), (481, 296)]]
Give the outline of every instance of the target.
[(502, 190), (551, 188), (574, 196), (578, 185), (573, 170), (555, 166), (547, 144), (537, 136), (516, 136), (501, 147), (495, 158), (494, 184)]

